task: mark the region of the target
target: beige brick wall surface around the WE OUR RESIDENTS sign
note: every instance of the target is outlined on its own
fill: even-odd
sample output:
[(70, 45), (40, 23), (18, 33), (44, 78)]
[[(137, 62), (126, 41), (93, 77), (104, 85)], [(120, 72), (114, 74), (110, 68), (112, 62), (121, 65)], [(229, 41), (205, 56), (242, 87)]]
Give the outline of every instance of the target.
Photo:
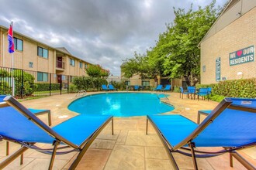
[[(227, 77), (227, 80), (255, 77), (255, 53), (254, 62), (230, 66), (230, 53), (248, 46), (256, 46), (256, 8), (201, 43), (201, 83), (217, 83), (215, 59), (218, 57), (221, 59), (220, 77)], [(202, 71), (202, 66), (206, 66), (206, 72)], [(237, 75), (238, 72), (243, 74)]]

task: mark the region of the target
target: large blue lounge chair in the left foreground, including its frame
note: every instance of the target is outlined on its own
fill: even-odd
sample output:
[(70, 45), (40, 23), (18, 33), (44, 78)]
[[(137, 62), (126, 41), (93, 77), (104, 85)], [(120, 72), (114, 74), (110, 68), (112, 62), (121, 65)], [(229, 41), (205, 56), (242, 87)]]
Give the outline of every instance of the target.
[[(85, 155), (85, 151), (92, 144), (92, 141), (109, 121), (112, 121), (110, 115), (79, 115), (58, 124), (54, 128), (50, 128), (15, 98), (8, 96), (4, 100), (5, 102), (0, 104), (0, 139), (20, 144), (22, 148), (19, 148), (13, 155), (2, 161), (0, 169), (5, 168), (28, 148), (51, 154), (49, 169), (53, 168), (55, 155), (78, 151), (77, 157), (70, 166), (70, 169), (74, 169)], [(36, 143), (52, 144), (54, 146), (53, 148), (43, 149), (37, 147)], [(60, 144), (61, 146), (59, 146)], [(69, 149), (59, 151), (63, 148)]]

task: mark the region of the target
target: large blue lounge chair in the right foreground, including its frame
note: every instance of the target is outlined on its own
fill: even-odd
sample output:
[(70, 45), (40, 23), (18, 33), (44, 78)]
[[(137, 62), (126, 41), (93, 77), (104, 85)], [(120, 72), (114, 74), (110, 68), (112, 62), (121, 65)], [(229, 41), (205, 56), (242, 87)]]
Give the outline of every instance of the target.
[[(223, 153), (230, 153), (230, 166), (234, 157), (246, 168), (255, 169), (236, 150), (256, 144), (256, 99), (226, 98), (201, 124), (195, 124), (177, 114), (147, 115), (147, 124), (148, 121), (163, 141), (175, 169), (178, 169), (178, 165), (173, 152), (191, 156), (194, 169), (198, 169), (196, 158), (208, 158)], [(201, 151), (200, 147), (223, 147), (223, 150)]]

